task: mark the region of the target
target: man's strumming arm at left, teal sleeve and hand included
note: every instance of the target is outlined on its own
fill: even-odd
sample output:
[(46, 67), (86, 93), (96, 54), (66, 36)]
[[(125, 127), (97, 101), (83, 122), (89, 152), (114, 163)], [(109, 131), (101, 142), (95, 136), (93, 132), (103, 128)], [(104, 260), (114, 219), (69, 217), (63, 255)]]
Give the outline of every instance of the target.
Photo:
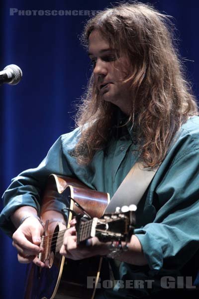
[[(65, 137), (67, 140), (68, 135)], [(5, 207), (0, 214), (0, 227), (7, 235), (13, 237), (13, 246), (18, 251), (18, 260), (21, 263), (28, 263), (33, 260), (39, 266), (43, 266), (37, 258), (35, 259), (35, 256), (42, 250), (39, 248), (43, 233), (41, 223), (35, 217), (28, 217), (21, 225), (19, 224), (24, 215), (40, 215), (40, 195), (51, 173), (72, 175), (70, 157), (63, 153), (62, 138), (56, 141), (37, 168), (20, 173), (12, 180), (12, 183), (4, 192)], [(64, 216), (58, 211), (65, 208), (66, 204), (62, 199), (56, 200), (57, 209), (55, 211), (52, 199), (52, 206), (49, 207), (49, 211), (45, 216), (52, 218), (50, 209), (53, 209), (53, 218), (63, 220)], [(55, 215), (55, 213), (58, 214)], [(67, 215), (65, 215), (65, 218), (67, 218)], [(53, 224), (50, 226), (53, 226)]]

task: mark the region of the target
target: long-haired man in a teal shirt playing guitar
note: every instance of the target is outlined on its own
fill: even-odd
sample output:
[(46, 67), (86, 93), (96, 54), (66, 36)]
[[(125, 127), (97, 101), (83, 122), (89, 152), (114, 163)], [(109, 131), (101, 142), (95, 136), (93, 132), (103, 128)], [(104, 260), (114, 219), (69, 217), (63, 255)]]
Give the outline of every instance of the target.
[[(37, 214), (49, 174), (76, 177), (112, 196), (135, 162), (159, 166), (138, 205), (128, 251), (110, 261), (124, 288), (100, 289), (99, 298), (162, 296), (168, 277), (177, 296), (179, 277), (194, 281), (198, 273), (199, 118), (168, 26), (165, 15), (139, 3), (106, 9), (88, 22), (83, 42), (94, 70), (79, 127), (60, 137), (44, 161), (22, 172), (4, 193), (0, 225), (10, 236), (15, 231), (19, 262), (44, 267), (37, 257), (43, 232)], [(63, 208), (58, 202), (46, 218), (64, 228)], [(74, 260), (108, 255), (107, 244), (97, 238), (78, 247), (75, 233), (74, 227), (66, 232), (62, 255)], [(138, 280), (141, 287), (126, 287)], [(190, 289), (197, 296), (192, 287), (185, 279), (183, 294)]]

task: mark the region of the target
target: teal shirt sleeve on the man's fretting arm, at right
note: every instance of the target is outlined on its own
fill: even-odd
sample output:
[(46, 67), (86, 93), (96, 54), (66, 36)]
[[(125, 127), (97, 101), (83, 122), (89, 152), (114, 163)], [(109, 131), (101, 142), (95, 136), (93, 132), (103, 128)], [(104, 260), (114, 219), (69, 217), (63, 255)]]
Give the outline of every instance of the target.
[(199, 251), (199, 148), (181, 154), (154, 192), (156, 217), (135, 230), (150, 275), (178, 271)]

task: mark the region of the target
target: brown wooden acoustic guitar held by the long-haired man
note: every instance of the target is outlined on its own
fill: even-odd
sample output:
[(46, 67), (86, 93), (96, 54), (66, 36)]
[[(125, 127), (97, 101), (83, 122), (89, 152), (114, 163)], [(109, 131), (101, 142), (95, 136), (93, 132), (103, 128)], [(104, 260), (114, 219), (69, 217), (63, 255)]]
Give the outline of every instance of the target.
[[(135, 215), (132, 212), (130, 217), (129, 212), (103, 215), (109, 202), (108, 193), (91, 190), (75, 178), (52, 174), (43, 195), (41, 219), (49, 205), (51, 210), (57, 210), (57, 199), (69, 207), (67, 228), (70, 227), (72, 214), (78, 216), (77, 244), (94, 236), (102, 242), (129, 241)], [(80, 216), (83, 210), (89, 217)], [(49, 223), (50, 219), (45, 221), (41, 242), (44, 252), (39, 254), (46, 267), (40, 268), (33, 263), (28, 265), (24, 299), (94, 299), (102, 257), (73, 261), (61, 256), (59, 251), (66, 230), (60, 231), (59, 225), (55, 224), (54, 230), (50, 231)], [(95, 278), (94, 288), (87, 287), (87, 277)]]

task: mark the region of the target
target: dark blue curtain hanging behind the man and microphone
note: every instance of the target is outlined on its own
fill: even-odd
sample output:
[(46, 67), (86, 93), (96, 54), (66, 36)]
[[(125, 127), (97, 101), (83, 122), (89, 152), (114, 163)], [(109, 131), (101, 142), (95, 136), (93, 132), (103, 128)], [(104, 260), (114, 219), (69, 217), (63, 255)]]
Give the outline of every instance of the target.
[[(180, 53), (198, 96), (198, 0), (151, 3), (174, 16)], [(37, 166), (55, 140), (74, 128), (75, 104), (90, 75), (88, 55), (79, 40), (88, 19), (84, 14), (109, 5), (107, 0), (1, 1), (0, 70), (17, 64), (23, 78), (17, 86), (0, 87), (0, 194), (12, 177)], [(74, 15), (27, 12), (32, 10), (73, 10)], [(22, 298), (25, 265), (18, 264), (11, 239), (2, 232), (0, 257), (0, 298)]]

